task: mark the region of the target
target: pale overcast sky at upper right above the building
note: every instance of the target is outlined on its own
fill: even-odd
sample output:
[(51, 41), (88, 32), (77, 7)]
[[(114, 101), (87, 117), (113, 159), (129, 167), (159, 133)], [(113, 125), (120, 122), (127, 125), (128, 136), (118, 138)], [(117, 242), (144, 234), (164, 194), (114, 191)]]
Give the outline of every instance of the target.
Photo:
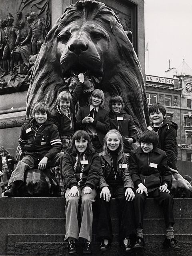
[[(166, 76), (168, 61), (192, 68), (192, 0), (145, 0), (146, 74)], [(149, 61), (148, 61), (149, 53)]]

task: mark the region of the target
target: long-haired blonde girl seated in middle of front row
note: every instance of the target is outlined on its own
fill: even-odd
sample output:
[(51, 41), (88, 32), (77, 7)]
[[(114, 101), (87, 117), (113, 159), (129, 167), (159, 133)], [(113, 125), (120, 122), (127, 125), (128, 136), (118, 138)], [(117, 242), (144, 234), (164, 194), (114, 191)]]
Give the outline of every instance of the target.
[(112, 224), (110, 217), (111, 197), (119, 203), (119, 242), (126, 251), (131, 249), (134, 238), (134, 184), (128, 171), (128, 155), (123, 152), (122, 136), (119, 131), (108, 131), (104, 138), (101, 155), (102, 175), (100, 176), (100, 209), (97, 238), (101, 241), (100, 250), (110, 249)]

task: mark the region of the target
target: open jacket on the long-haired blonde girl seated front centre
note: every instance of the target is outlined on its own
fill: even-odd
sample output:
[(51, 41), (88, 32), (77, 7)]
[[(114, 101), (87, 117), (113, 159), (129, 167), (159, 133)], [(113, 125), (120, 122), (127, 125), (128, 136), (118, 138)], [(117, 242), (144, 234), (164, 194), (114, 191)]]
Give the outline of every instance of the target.
[[(101, 174), (100, 174), (100, 181), (99, 181), (99, 187), (100, 189), (104, 186), (109, 186), (106, 182), (107, 177), (109, 176), (111, 170), (112, 170), (112, 163), (110, 160), (110, 157), (108, 154), (106, 154), (104, 151), (100, 154), (101, 159)], [(134, 183), (132, 181), (129, 168), (129, 156), (127, 154), (122, 154), (120, 152), (117, 156), (117, 170), (119, 175), (122, 177), (123, 180), (123, 187), (126, 188), (132, 188), (134, 190)]]

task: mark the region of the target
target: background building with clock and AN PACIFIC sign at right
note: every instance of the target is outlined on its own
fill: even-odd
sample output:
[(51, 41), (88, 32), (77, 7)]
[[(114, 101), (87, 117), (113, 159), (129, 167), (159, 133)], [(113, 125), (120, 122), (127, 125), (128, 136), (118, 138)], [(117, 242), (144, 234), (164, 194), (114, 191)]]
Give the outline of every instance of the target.
[(148, 104), (166, 106), (167, 119), (178, 124), (178, 160), (192, 162), (192, 69), (183, 60), (165, 76), (146, 75)]

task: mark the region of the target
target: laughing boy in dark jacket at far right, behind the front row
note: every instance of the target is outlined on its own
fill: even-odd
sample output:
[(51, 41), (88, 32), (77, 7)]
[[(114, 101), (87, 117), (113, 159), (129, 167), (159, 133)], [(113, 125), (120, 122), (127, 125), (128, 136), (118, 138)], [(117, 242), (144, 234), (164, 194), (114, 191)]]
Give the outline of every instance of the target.
[(167, 155), (167, 165), (175, 170), (177, 163), (177, 124), (166, 119), (166, 109), (164, 105), (157, 102), (149, 107), (149, 115), (152, 125), (148, 129), (153, 129), (159, 135), (158, 148), (164, 150)]

